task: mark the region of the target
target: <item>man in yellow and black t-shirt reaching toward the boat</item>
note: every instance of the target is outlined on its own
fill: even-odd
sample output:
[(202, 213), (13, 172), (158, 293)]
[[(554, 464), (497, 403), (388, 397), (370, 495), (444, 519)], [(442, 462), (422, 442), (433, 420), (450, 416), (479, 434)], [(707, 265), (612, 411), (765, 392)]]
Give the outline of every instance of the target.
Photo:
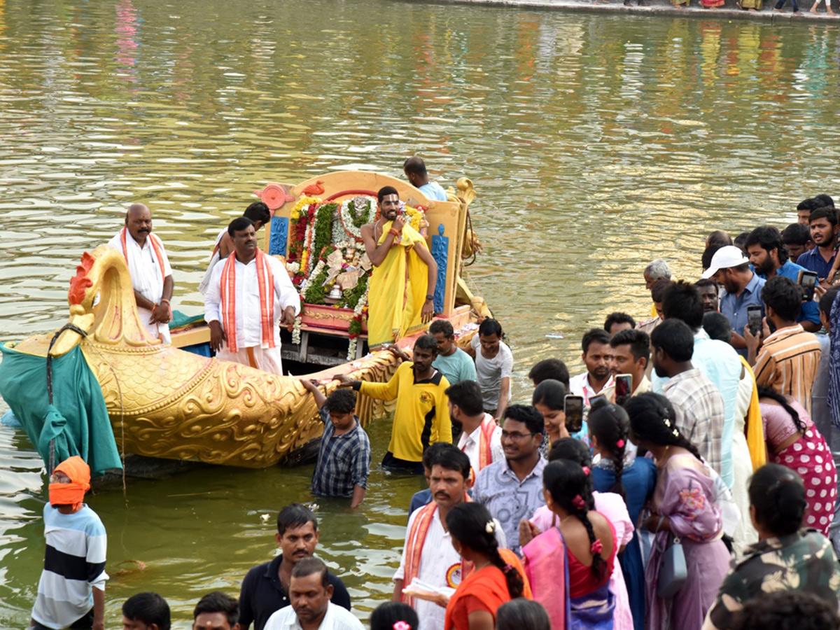
[(423, 451), (429, 444), (452, 442), (452, 423), (444, 393), (449, 381), (432, 367), (438, 355), (438, 342), (432, 335), (418, 337), (413, 354), (413, 362), (403, 361), (387, 383), (353, 381), (344, 374), (335, 378), (343, 386), (352, 385), (355, 391), (377, 400), (396, 398), (391, 443), (382, 466), (423, 475)]

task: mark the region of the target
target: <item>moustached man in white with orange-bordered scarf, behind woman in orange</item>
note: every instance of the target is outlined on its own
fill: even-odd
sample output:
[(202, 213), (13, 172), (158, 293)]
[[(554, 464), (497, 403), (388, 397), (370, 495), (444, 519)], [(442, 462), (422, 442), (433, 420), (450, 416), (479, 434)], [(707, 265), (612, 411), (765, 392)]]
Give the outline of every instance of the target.
[[(446, 528), (446, 515), (462, 501), (469, 501), (470, 485), (470, 458), (452, 444), (442, 444), (429, 476), (433, 501), (412, 512), (408, 519), (400, 568), (394, 574), (394, 601), (413, 606), (417, 616), (423, 619), (424, 630), (444, 630), (446, 600), (443, 597), (440, 601), (421, 600), (410, 592), (403, 593), (402, 589), (415, 578), (438, 588), (457, 588), (465, 577), (464, 561), (452, 547), (452, 537)], [(496, 540), (500, 547), (507, 546), (498, 521)]]

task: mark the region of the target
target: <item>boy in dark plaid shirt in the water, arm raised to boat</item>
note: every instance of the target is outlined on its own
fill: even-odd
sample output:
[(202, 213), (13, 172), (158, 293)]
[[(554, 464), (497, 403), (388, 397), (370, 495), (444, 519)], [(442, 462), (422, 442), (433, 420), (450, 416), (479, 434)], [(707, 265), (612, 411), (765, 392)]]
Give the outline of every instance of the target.
[(359, 507), (365, 499), (370, 471), (370, 439), (355, 415), (355, 392), (339, 389), (327, 397), (320, 390), (319, 381), (301, 382), (315, 396), (323, 422), (318, 461), (312, 472), (312, 492), (349, 496), (350, 507)]

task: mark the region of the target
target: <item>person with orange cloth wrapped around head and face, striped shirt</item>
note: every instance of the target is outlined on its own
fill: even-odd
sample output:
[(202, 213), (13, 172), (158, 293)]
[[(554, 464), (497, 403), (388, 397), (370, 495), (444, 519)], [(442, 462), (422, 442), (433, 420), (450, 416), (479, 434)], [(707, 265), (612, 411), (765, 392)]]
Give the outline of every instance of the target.
[(90, 487), (91, 469), (81, 457), (65, 459), (50, 476), (50, 502), (44, 507), (47, 549), (30, 627), (105, 627), (108, 538), (97, 513), (82, 502)]

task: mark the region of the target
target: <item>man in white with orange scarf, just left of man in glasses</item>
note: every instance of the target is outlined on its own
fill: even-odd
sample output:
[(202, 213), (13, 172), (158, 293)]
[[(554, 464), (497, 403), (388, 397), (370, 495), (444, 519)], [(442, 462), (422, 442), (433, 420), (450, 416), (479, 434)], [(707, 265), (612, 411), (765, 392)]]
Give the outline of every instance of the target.
[(449, 417), (461, 428), (458, 448), (470, 458), (472, 479), (486, 466), (505, 458), (501, 427), (484, 412), (481, 388), (475, 381), (461, 381), (444, 392), (449, 397)]

